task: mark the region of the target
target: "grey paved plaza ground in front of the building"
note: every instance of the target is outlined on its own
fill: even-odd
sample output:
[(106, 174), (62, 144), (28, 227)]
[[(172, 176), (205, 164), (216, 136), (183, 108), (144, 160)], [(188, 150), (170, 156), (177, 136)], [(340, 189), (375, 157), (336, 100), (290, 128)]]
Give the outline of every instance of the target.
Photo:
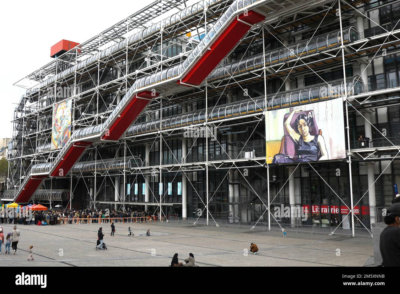
[[(4, 235), (12, 225), (3, 224)], [(95, 250), (98, 228), (102, 226), (108, 250)], [(23, 226), (17, 254), (5, 255), (2, 266), (168, 266), (174, 253), (180, 261), (194, 254), (198, 266), (363, 266), (373, 255), (372, 240), (363, 237), (328, 236), (277, 231), (172, 223), (68, 224)], [(134, 236), (128, 236), (128, 227)], [(151, 236), (139, 236), (150, 229)], [(250, 243), (258, 254), (244, 254)], [(27, 261), (29, 245), (34, 261)], [(338, 256), (340, 250), (340, 256)]]

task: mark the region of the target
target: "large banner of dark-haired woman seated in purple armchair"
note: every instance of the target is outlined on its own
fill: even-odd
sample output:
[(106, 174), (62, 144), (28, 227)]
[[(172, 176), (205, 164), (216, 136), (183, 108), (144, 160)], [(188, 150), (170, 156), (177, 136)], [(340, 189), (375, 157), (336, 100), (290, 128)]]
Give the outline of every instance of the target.
[(270, 164), (346, 157), (342, 98), (267, 111), (266, 121)]

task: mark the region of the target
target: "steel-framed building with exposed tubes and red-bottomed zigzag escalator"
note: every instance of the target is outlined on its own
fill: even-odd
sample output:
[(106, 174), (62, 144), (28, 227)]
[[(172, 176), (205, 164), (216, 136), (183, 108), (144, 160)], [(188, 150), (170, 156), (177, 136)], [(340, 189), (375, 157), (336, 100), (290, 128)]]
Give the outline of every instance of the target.
[(368, 235), (400, 184), (399, 20), (391, 1), (171, 0), (62, 40), (16, 83), (2, 201)]

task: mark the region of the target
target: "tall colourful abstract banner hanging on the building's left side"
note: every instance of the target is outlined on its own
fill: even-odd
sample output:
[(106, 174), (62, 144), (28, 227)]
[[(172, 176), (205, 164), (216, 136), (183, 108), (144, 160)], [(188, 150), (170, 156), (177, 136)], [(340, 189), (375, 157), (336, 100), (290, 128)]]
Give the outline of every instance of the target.
[(51, 149), (62, 148), (71, 136), (72, 99), (65, 100), (53, 107)]

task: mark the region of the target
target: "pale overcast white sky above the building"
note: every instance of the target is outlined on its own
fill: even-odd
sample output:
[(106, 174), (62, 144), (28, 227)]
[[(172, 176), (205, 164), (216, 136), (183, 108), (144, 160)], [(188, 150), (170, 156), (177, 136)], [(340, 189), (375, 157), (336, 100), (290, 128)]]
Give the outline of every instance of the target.
[[(12, 137), (15, 104), (25, 90), (12, 86), (52, 60), (50, 47), (62, 39), (83, 42), (152, 0), (3, 1), (0, 25), (0, 138)], [(110, 6), (112, 4), (112, 6)]]

